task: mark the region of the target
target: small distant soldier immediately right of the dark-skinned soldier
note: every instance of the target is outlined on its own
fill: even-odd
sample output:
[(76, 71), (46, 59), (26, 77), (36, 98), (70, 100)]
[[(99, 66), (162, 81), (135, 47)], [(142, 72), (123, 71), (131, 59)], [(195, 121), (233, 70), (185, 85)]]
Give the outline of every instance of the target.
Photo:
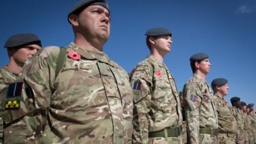
[(241, 109), (243, 110), (243, 121), (244, 121), (244, 144), (249, 143), (249, 134), (248, 134), (248, 114), (246, 109), (246, 103), (241, 102)]

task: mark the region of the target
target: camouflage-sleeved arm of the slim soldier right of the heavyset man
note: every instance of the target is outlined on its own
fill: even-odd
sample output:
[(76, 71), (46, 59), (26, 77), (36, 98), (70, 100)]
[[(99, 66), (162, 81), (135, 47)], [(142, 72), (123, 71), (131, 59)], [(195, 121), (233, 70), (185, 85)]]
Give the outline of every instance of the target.
[(131, 77), (133, 89), (133, 126), (132, 143), (148, 143), (148, 112), (150, 111), (152, 76), (147, 68), (138, 66)]

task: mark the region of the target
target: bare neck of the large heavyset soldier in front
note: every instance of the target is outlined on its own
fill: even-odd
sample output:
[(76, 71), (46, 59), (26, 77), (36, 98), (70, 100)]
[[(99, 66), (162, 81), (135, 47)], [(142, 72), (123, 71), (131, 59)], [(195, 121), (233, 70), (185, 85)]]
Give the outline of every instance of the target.
[(84, 36), (80, 35), (79, 33), (76, 33), (74, 44), (76, 44), (79, 47), (82, 47), (83, 49), (94, 51), (94, 52), (102, 52), (103, 44), (99, 42), (98, 40), (88, 40), (84, 38)]

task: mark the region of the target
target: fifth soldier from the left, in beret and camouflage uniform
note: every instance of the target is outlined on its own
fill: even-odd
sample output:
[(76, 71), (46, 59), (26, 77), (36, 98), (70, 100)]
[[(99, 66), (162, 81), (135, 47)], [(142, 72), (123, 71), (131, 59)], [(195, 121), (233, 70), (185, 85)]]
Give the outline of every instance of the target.
[(236, 118), (234, 112), (228, 106), (225, 95), (228, 94), (228, 80), (224, 78), (214, 79), (211, 83), (214, 92), (214, 102), (218, 112), (218, 141), (220, 144), (235, 144)]

